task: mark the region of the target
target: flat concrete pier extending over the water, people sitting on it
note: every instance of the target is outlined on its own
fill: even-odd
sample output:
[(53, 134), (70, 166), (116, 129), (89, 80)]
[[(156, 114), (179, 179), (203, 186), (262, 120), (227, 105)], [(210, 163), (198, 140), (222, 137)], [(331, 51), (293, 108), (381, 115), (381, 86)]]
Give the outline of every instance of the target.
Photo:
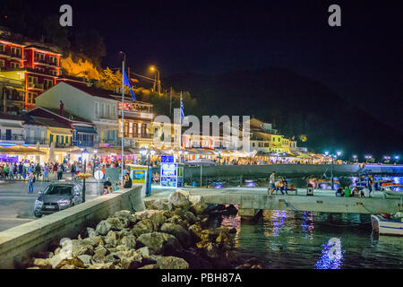
[[(269, 196), (266, 187), (182, 188), (192, 196), (203, 196), (208, 204), (236, 204), (247, 210), (293, 210), (323, 213), (397, 213), (403, 210), (399, 196), (384, 198), (375, 191), (372, 197), (336, 197), (333, 190), (314, 190), (314, 196), (306, 196), (306, 188), (288, 192), (288, 196)], [(167, 196), (173, 190), (153, 187), (152, 195)], [(240, 207), (241, 206), (241, 207)]]

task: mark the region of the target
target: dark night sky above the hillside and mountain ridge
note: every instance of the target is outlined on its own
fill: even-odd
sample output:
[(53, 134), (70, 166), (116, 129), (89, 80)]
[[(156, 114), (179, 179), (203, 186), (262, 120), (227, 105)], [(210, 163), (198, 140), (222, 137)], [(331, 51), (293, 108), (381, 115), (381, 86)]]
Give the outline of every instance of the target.
[[(33, 1), (73, 6), (73, 30), (104, 37), (103, 65), (161, 78), (282, 67), (323, 83), (403, 131), (401, 1)], [(341, 27), (328, 25), (330, 4)], [(330, 103), (331, 104), (331, 103)]]

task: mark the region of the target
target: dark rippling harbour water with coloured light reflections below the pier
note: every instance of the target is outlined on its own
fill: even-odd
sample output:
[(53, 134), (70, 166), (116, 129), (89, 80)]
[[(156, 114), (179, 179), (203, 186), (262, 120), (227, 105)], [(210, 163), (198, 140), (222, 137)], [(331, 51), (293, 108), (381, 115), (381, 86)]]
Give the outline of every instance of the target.
[[(218, 216), (210, 225), (235, 227), (242, 257), (258, 257), (269, 268), (399, 268), (403, 238), (375, 236), (369, 214), (263, 211), (258, 222)], [(342, 258), (330, 260), (329, 240), (340, 239)]]

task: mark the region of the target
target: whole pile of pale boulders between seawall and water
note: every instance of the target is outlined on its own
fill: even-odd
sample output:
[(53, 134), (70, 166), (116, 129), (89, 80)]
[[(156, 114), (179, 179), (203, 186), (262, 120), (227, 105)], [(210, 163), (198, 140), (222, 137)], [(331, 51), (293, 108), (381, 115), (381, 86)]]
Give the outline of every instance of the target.
[(201, 269), (259, 268), (240, 262), (236, 230), (209, 229), (201, 196), (177, 190), (167, 199), (147, 201), (148, 209), (119, 211), (62, 239), (30, 260), (30, 269)]

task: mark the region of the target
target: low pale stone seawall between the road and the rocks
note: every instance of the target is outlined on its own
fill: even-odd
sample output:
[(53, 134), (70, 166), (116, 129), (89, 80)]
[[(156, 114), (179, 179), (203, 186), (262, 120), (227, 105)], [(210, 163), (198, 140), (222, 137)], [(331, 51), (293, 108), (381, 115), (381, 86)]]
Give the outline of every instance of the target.
[(141, 186), (120, 189), (84, 204), (0, 232), (0, 268), (19, 268), (24, 260), (62, 238), (71, 238), (86, 226), (120, 210), (145, 209)]

